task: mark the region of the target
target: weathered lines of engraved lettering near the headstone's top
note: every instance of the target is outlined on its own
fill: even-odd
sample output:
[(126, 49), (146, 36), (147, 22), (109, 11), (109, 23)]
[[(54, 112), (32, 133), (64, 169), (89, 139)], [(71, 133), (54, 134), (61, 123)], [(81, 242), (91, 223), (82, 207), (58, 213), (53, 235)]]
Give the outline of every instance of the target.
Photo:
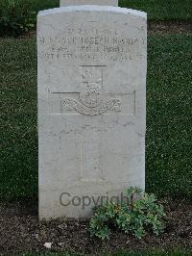
[(92, 28), (67, 29), (58, 35), (39, 37), (38, 43), (45, 47), (38, 55), (44, 62), (98, 59), (115, 62), (142, 59), (143, 56), (136, 49), (145, 45), (146, 41), (144, 38), (123, 37), (115, 29), (111, 31)]

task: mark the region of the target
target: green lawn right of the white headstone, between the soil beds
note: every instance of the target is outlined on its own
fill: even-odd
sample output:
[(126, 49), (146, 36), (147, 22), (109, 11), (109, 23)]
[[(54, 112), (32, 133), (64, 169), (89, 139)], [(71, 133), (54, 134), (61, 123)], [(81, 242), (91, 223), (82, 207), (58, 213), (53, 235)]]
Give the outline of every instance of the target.
[(149, 38), (147, 190), (192, 198), (192, 37)]

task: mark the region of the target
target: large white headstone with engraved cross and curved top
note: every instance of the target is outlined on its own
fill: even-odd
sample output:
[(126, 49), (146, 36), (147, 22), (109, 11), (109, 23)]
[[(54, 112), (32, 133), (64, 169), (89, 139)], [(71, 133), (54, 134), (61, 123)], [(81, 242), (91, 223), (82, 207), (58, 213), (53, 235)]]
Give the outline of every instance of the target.
[(118, 7), (38, 14), (40, 218), (88, 217), (144, 189), (146, 21)]

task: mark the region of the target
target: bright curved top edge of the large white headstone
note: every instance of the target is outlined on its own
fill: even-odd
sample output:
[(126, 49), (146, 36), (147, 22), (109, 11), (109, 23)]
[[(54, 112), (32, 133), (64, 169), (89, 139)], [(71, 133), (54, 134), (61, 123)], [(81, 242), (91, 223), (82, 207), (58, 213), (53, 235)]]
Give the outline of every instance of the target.
[(40, 11), (37, 16), (44, 16), (49, 14), (56, 14), (56, 13), (70, 13), (70, 12), (108, 12), (108, 13), (122, 13), (122, 14), (132, 14), (137, 15), (147, 19), (147, 13), (121, 8), (121, 7), (113, 7), (113, 6), (95, 6), (95, 5), (84, 5), (84, 6), (67, 6), (67, 7), (60, 7), (54, 9), (48, 9), (44, 11)]

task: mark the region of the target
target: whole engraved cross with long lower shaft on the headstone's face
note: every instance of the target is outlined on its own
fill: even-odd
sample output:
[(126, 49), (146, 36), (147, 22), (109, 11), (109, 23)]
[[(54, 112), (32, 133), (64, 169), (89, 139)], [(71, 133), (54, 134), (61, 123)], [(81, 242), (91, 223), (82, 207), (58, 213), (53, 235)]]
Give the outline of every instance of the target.
[[(119, 115), (135, 115), (134, 87), (130, 86), (130, 91), (127, 90), (127, 93), (119, 89), (119, 93), (108, 93), (104, 82), (105, 68), (106, 65), (81, 65), (79, 66), (80, 91), (49, 92), (52, 115), (79, 115), (82, 119), (80, 122), (82, 126), (76, 129), (79, 131), (77, 144), (80, 147), (81, 163), (79, 180), (84, 182), (105, 180), (102, 144), (106, 127), (103, 117), (112, 116), (117, 112)], [(128, 85), (120, 87), (124, 88), (124, 86)], [(91, 116), (95, 117), (90, 118)], [(87, 172), (90, 169), (94, 169), (94, 172)]]

